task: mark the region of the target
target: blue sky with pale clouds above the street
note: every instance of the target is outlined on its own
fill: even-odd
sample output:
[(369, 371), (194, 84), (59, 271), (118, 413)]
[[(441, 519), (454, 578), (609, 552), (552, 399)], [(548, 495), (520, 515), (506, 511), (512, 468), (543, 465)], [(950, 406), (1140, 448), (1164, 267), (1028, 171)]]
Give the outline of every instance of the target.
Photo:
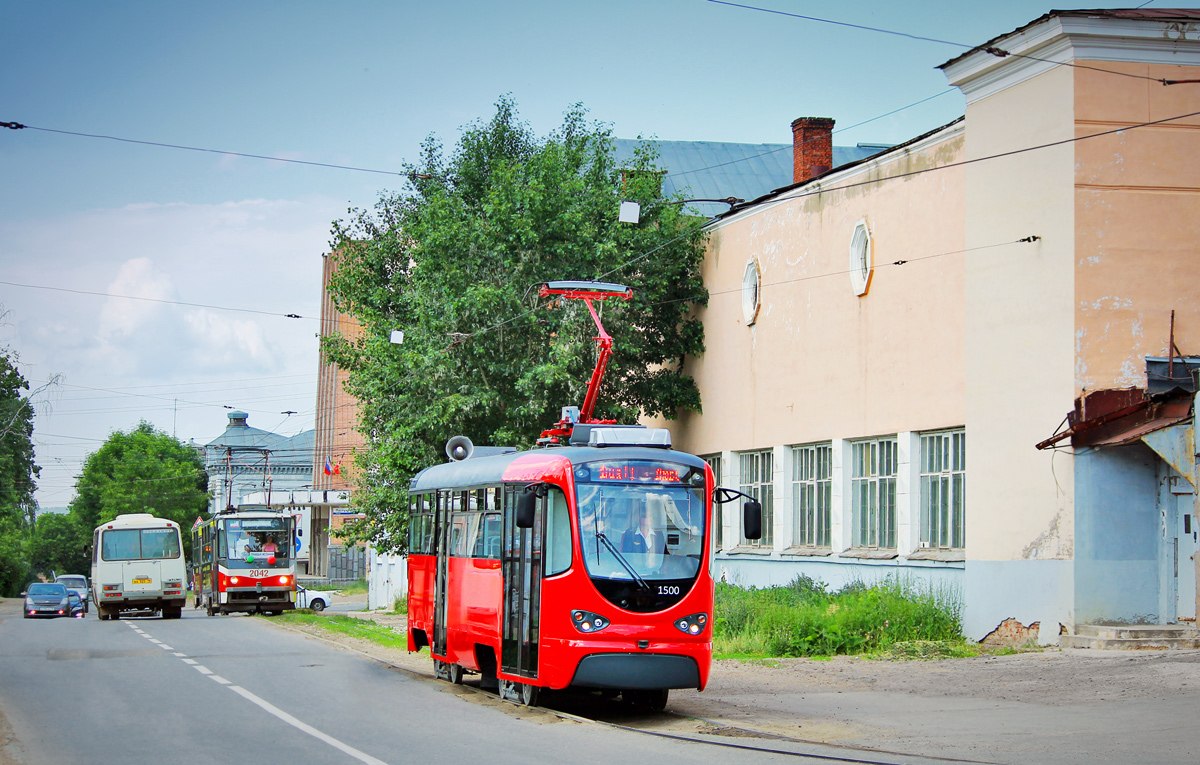
[(0, 122), (28, 126), (0, 128), (0, 348), (37, 500), (68, 505), (143, 420), (312, 428), (331, 223), (503, 95), (539, 135), (582, 103), (619, 138), (782, 144), (829, 116), (836, 145), (900, 143), (962, 114), (940, 64), (1051, 7), (1138, 5), (1200, 0), (0, 0)]

